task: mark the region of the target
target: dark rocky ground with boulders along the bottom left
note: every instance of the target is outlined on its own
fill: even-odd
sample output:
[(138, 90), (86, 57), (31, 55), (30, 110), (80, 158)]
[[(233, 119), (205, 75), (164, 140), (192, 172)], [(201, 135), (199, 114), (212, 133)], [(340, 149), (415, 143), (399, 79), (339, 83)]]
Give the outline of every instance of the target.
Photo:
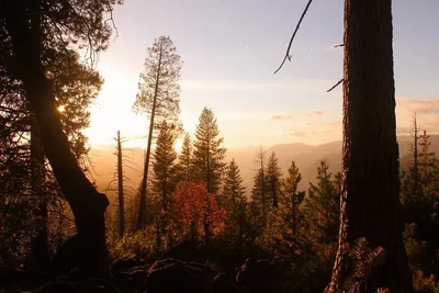
[(76, 268), (74, 240), (53, 259), (53, 274), (0, 267), (0, 292), (40, 293), (275, 293), (284, 292), (282, 272), (270, 260), (247, 259), (235, 272), (222, 272), (205, 258), (205, 248), (182, 241), (151, 261), (138, 256), (115, 260), (113, 279), (83, 279)]

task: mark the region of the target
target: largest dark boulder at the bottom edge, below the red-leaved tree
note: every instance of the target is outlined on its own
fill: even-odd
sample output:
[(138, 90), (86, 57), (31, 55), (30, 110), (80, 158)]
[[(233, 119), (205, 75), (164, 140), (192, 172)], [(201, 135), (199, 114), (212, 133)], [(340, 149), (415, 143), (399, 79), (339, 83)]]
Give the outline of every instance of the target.
[(148, 293), (212, 293), (212, 278), (205, 264), (165, 259), (151, 266), (145, 289)]

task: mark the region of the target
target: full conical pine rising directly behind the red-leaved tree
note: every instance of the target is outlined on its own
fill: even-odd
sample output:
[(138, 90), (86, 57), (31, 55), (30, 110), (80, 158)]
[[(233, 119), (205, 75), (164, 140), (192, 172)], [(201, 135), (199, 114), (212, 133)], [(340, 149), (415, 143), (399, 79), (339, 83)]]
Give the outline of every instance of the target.
[(222, 147), (224, 138), (218, 137), (219, 129), (212, 110), (204, 108), (195, 132), (193, 144), (194, 180), (205, 182), (207, 192), (217, 193), (224, 171), (226, 149)]

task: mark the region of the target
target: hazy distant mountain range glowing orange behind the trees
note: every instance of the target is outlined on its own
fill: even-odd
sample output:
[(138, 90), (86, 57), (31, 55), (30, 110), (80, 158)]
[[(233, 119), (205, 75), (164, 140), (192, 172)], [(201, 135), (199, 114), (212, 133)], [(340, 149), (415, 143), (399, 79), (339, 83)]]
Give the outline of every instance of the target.
[[(439, 135), (431, 135), (429, 140), (431, 143), (430, 151), (439, 154)], [(410, 136), (398, 136), (399, 162), (403, 170), (408, 169), (408, 153), (412, 143), (413, 138)], [(258, 146), (227, 149), (226, 159), (229, 161), (232, 158), (235, 158), (237, 161), (248, 195), (251, 192), (254, 177), (258, 168), (255, 162), (255, 154), (258, 149)], [(101, 191), (104, 191), (114, 178), (114, 172), (116, 170), (116, 158), (113, 155), (114, 150), (115, 148), (113, 146), (97, 146), (92, 148), (90, 154), (90, 159), (93, 166), (92, 176)], [(330, 172), (335, 173), (341, 171), (341, 140), (317, 146), (301, 143), (281, 144), (264, 148), (264, 150), (267, 151), (267, 159), (272, 151), (275, 153), (284, 176), (286, 176), (291, 161), (295, 161), (300, 172), (302, 173), (302, 182), (299, 187), (301, 190), (307, 190), (309, 182), (314, 183), (316, 181), (317, 167), (322, 159), (328, 161)], [(131, 187), (130, 189), (132, 191), (128, 192), (128, 194), (134, 194), (134, 190), (137, 189), (140, 181), (144, 150), (140, 148), (127, 148), (124, 150), (124, 157), (126, 165), (124, 173), (127, 178), (125, 180), (125, 185)], [(115, 188), (115, 185), (111, 184), (110, 187)], [(109, 194), (113, 192), (110, 191)]]

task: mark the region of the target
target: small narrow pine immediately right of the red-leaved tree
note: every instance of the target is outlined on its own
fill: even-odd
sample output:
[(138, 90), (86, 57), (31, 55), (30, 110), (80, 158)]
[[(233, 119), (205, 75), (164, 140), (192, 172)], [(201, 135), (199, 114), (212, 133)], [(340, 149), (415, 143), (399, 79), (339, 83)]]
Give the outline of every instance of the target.
[(246, 189), (243, 187), (243, 178), (239, 172), (239, 167), (235, 159), (227, 166), (223, 196), (225, 207), (228, 212), (228, 229), (237, 236), (240, 248), (244, 245), (244, 233), (246, 224)]

